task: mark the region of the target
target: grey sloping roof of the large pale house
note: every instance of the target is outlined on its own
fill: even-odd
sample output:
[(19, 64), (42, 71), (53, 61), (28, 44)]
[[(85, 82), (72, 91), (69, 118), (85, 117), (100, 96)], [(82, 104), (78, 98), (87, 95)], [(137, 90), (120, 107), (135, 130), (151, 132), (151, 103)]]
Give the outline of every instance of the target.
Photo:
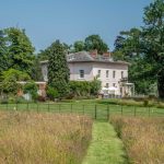
[[(105, 62), (105, 63), (120, 63), (120, 65), (130, 65), (126, 61), (114, 61), (110, 57), (105, 57), (102, 55), (92, 56), (87, 51), (79, 51), (74, 54), (67, 55), (68, 62)], [(48, 60), (40, 61), (40, 63), (47, 63)]]

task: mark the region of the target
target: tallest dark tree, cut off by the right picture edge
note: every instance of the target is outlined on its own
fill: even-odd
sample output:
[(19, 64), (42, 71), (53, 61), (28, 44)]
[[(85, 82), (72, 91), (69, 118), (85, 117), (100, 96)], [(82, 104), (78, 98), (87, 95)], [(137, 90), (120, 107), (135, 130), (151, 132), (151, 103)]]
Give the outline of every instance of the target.
[(164, 0), (155, 0), (147, 7), (143, 21), (143, 52), (153, 66), (159, 96), (164, 98)]

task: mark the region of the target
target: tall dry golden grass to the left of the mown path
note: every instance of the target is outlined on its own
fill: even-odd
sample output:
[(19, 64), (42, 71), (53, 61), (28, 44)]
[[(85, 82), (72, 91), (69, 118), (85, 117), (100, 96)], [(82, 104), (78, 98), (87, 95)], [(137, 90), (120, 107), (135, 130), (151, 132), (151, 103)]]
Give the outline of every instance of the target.
[(0, 164), (79, 164), (91, 132), (84, 116), (0, 112)]

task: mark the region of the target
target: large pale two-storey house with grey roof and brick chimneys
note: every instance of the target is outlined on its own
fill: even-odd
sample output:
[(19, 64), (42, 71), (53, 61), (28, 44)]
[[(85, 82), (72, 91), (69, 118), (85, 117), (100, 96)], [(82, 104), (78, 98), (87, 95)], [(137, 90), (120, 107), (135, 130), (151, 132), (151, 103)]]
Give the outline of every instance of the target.
[[(92, 81), (95, 77), (102, 82), (101, 93), (104, 95), (130, 96), (133, 84), (128, 83), (128, 62), (114, 61), (110, 54), (97, 55), (80, 51), (67, 56), (70, 80)], [(48, 81), (48, 60), (42, 61), (44, 81)]]

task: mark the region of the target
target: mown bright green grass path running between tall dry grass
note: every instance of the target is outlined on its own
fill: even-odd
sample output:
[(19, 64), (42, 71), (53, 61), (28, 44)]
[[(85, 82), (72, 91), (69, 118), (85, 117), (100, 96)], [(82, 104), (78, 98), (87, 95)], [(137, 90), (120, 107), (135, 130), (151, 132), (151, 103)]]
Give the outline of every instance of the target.
[(126, 153), (121, 140), (108, 122), (93, 124), (92, 141), (82, 164), (125, 164)]

